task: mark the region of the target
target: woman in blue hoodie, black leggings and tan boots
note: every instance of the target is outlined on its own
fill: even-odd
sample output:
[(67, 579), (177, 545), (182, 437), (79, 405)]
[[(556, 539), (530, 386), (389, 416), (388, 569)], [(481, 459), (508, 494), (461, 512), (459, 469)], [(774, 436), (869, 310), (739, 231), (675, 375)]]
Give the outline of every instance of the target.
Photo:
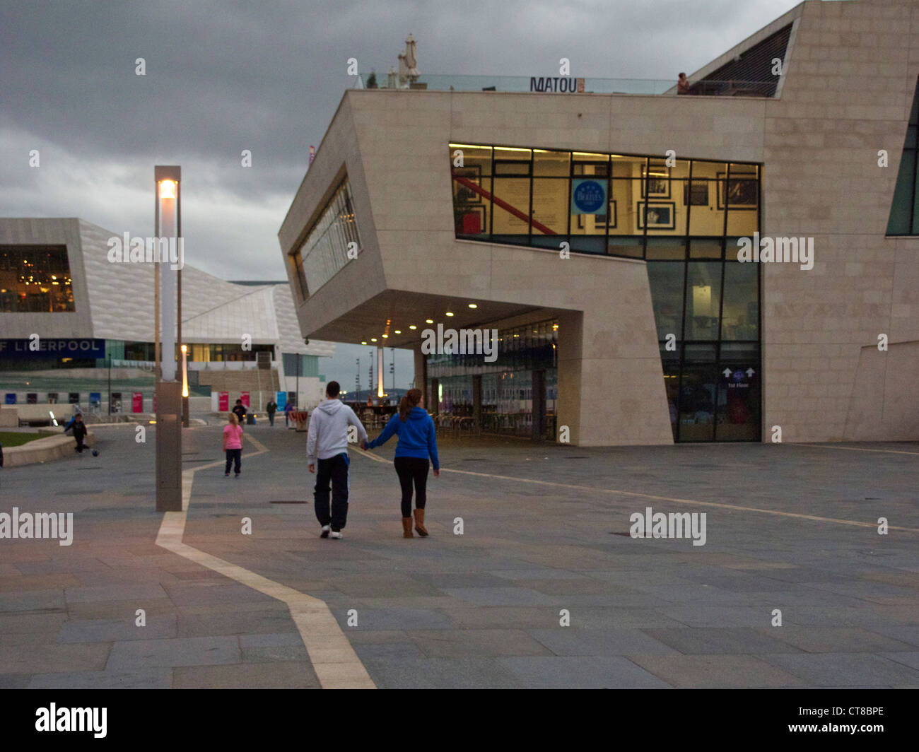
[(395, 434), (399, 437), (396, 447), (395, 465), (399, 483), (403, 489), (403, 538), (412, 538), (412, 484), (414, 483), (414, 529), (424, 538), (425, 530), (425, 484), (427, 484), (427, 458), (434, 465), (434, 477), (440, 476), (440, 461), (437, 460), (437, 438), (434, 421), (418, 406), (421, 390), (410, 389), (399, 403), (398, 414), (390, 418), (383, 432), (376, 439), (364, 445), (364, 449), (381, 447)]

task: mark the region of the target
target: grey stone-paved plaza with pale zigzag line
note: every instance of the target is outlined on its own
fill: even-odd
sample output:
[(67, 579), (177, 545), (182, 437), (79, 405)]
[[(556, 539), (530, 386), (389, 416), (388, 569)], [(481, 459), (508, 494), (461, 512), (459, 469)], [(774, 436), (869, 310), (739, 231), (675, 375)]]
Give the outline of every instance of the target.
[[(0, 512), (74, 513), (70, 546), (0, 541), (0, 687), (919, 687), (919, 444), (445, 439), (409, 541), (392, 441), (352, 450), (331, 541), (305, 434), (248, 427), (235, 480), (187, 429), (165, 520), (154, 428), (95, 430), (0, 470)], [(705, 544), (631, 537), (647, 507)]]

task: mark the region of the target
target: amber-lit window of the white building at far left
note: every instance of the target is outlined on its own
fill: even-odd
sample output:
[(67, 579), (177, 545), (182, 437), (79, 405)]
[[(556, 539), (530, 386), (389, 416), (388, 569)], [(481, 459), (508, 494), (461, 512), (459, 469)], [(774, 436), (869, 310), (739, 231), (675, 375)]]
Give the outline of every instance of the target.
[(0, 313), (74, 311), (63, 245), (0, 245)]

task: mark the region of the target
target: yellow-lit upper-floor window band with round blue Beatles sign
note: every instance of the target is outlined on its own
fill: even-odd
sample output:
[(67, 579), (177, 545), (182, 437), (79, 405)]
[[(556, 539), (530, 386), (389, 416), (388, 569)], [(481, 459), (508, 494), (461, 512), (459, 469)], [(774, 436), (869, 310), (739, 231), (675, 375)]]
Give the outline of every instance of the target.
[(459, 143), (449, 159), (460, 239), (659, 258), (659, 238), (695, 237), (720, 257), (759, 228), (760, 165)]

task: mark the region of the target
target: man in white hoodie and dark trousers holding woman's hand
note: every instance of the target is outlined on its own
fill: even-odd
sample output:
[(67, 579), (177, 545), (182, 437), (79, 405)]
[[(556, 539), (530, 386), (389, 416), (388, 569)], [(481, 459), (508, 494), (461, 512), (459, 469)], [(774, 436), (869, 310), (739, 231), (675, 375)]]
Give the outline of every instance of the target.
[[(313, 498), (316, 518), (322, 526), (320, 538), (341, 540), (342, 528), (347, 521), (347, 429), (357, 427), (357, 440), (366, 441), (367, 431), (354, 414), (340, 399), (338, 382), (329, 382), (325, 387), (324, 402), (319, 403), (310, 416), (310, 430), (306, 436), (306, 459), (310, 472), (316, 472), (316, 458), (319, 458), (319, 473)], [(329, 482), (332, 482), (332, 513), (329, 514)]]

